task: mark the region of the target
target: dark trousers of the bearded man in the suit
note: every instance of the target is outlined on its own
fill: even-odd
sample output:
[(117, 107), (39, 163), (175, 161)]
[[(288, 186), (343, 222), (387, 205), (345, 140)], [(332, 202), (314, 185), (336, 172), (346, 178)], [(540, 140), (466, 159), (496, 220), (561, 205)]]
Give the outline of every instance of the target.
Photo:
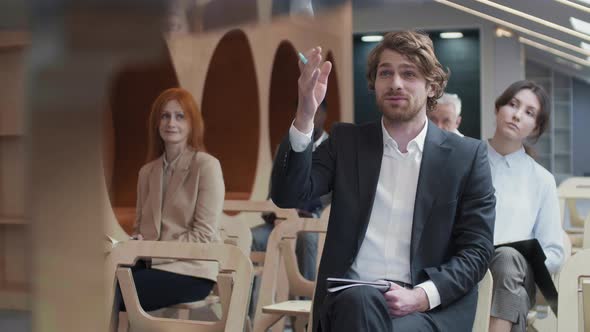
[(320, 310), (322, 332), (438, 331), (427, 313), (391, 317), (385, 297), (369, 286), (328, 294)]

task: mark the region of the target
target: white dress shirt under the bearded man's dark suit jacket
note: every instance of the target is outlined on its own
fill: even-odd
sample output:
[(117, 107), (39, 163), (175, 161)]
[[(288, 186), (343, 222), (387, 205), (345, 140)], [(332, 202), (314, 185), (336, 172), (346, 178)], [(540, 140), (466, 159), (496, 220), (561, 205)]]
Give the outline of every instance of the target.
[[(414, 203), (424, 140), (424, 128), (408, 143), (408, 151), (399, 151), (397, 142), (389, 135), (381, 121), (383, 131), (383, 158), (375, 193), (375, 201), (365, 238), (351, 266), (354, 278), (359, 280), (397, 280), (411, 284), (410, 241)], [(311, 142), (313, 130), (304, 134), (291, 125), (289, 140), (295, 152), (305, 150)], [(440, 305), (440, 294), (431, 280), (417, 285), (424, 289), (430, 309)]]

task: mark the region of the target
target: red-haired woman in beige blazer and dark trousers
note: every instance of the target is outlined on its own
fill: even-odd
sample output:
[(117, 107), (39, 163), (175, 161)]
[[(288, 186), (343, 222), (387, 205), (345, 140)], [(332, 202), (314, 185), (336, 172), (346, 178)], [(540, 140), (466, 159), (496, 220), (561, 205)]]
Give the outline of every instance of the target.
[[(219, 161), (203, 144), (203, 119), (192, 95), (168, 89), (149, 117), (148, 163), (139, 171), (133, 238), (219, 242), (225, 186)], [(217, 278), (216, 262), (153, 259), (133, 279), (144, 310), (205, 298)]]

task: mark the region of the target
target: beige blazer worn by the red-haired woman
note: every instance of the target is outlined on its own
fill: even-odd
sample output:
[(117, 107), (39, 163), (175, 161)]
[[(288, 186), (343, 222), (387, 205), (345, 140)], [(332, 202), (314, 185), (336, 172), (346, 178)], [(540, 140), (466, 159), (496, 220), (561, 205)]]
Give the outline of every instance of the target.
[[(162, 201), (163, 158), (139, 171), (134, 234), (152, 241), (219, 242), (225, 196), (219, 161), (205, 152), (185, 150)], [(217, 279), (217, 266), (216, 262), (152, 260), (152, 268), (211, 280)]]

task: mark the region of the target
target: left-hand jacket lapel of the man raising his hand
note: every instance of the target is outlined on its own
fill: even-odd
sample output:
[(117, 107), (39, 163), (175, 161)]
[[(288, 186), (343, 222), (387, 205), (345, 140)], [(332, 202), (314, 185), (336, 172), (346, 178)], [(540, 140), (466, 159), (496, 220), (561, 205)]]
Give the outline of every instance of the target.
[(381, 172), (381, 161), (383, 159), (383, 132), (381, 129), (381, 119), (370, 126), (361, 127), (361, 132), (357, 138), (357, 169), (358, 169), (358, 188), (361, 222), (358, 228), (356, 251), (360, 248), (364, 238), (375, 193), (377, 183), (379, 182), (379, 173)]

